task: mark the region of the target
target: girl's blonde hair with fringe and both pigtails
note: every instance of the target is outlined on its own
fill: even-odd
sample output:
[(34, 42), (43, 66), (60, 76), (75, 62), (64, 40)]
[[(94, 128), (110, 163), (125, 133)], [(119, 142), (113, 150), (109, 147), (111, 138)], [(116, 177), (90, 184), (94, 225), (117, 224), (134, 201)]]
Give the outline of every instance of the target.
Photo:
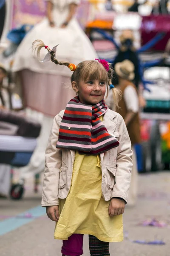
[[(53, 52), (49, 47), (45, 46), (45, 44), (41, 40), (36, 40), (32, 44), (32, 48), (34, 49), (34, 52), (37, 52), (37, 57), (40, 58), (40, 50), (45, 47), (48, 52), (51, 54), (51, 61), (54, 62), (57, 65), (64, 65), (69, 66), (71, 63), (68, 61), (58, 61), (57, 58), (55, 58), (55, 52)], [(74, 64), (72, 64), (74, 65)], [(74, 65), (75, 66), (75, 65)], [(108, 90), (109, 86), (111, 84), (111, 79), (114, 75), (113, 68), (111, 64), (109, 63), (109, 70), (107, 71), (105, 67), (99, 63), (98, 61), (91, 60), (91, 61), (82, 61), (77, 66), (75, 66), (75, 70), (71, 76), (71, 82), (75, 81), (77, 84), (80, 80), (87, 81), (87, 80), (96, 80), (99, 79), (101, 81), (106, 82), (107, 86), (107, 96), (108, 97)], [(119, 100), (122, 97), (122, 93), (120, 90), (116, 88), (112, 88), (113, 93), (113, 101), (116, 107), (119, 107)]]

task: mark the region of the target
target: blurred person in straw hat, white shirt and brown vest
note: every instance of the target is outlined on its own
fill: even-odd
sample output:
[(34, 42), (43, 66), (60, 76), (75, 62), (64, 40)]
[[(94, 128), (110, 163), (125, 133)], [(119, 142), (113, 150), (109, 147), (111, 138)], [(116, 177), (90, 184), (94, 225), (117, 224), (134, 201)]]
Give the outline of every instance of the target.
[(131, 206), (136, 203), (138, 177), (136, 152), (133, 146), (141, 142), (139, 123), (139, 96), (136, 86), (132, 82), (135, 77), (134, 69), (134, 64), (127, 59), (122, 62), (118, 62), (115, 65), (115, 71), (118, 78), (118, 84), (115, 85), (115, 87), (122, 91), (122, 99), (119, 101), (119, 108), (116, 108), (116, 112), (120, 113), (125, 121), (133, 151), (133, 169), (128, 201), (128, 205)]

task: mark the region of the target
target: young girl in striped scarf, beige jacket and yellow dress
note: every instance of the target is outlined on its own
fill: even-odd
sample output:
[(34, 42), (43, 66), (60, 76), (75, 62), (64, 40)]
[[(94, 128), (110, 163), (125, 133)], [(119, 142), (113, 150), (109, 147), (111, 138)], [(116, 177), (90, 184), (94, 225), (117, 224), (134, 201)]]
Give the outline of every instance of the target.
[[(63, 240), (63, 256), (82, 255), (83, 234), (89, 235), (91, 256), (109, 256), (109, 242), (123, 240), (122, 213), (132, 169), (125, 122), (104, 101), (113, 71), (105, 60), (77, 66), (58, 61), (42, 43), (37, 52), (42, 47), (55, 64), (73, 71), (77, 94), (54, 118), (45, 152), (42, 207), (56, 221), (54, 238)], [(116, 101), (114, 88), (113, 95)]]

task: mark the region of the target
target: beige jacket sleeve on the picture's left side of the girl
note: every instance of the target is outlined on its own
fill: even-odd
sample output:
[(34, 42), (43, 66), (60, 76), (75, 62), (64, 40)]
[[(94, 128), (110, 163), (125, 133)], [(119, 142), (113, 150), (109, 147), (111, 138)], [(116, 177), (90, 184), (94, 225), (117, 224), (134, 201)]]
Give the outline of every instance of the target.
[(45, 150), (45, 171), (42, 186), (42, 207), (59, 205), (59, 170), (62, 162), (61, 149), (56, 148), (59, 136), (59, 116), (54, 118)]

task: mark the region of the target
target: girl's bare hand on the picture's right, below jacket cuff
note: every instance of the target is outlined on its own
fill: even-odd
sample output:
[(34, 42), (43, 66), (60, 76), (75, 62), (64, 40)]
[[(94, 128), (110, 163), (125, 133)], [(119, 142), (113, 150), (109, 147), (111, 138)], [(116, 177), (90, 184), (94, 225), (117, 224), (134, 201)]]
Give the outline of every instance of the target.
[(119, 198), (112, 198), (109, 205), (109, 216), (113, 217), (116, 215), (123, 214), (125, 210), (125, 201)]

